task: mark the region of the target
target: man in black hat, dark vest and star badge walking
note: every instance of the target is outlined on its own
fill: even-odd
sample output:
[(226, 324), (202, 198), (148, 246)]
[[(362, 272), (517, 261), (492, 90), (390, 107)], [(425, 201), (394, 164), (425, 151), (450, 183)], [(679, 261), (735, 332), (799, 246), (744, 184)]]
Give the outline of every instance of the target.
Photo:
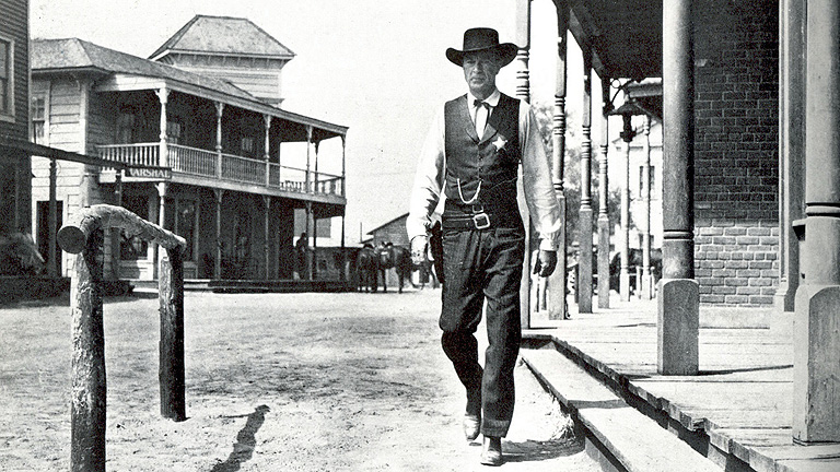
[[(557, 264), (560, 208), (536, 119), (527, 104), (499, 92), (495, 76), (516, 56), (491, 28), (464, 33), (446, 58), (463, 68), (468, 93), (439, 111), (420, 154), (406, 223), (411, 257), (427, 257), (429, 217), (443, 193), (441, 343), (466, 388), (464, 433), (483, 435), (481, 463), (502, 463), (501, 438), (513, 417), (513, 370), (522, 340), (520, 285), (525, 228), (516, 202), (518, 166), (540, 234), (536, 271)], [(489, 346), (483, 368), (475, 333), (487, 302)]]

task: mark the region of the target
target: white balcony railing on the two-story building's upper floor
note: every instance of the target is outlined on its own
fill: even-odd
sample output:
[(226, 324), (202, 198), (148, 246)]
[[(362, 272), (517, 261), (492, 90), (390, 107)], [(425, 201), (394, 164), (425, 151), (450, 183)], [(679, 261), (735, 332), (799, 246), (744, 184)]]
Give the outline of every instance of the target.
[[(208, 177), (236, 184), (256, 185), (300, 193), (343, 196), (341, 176), (266, 163), (233, 154), (219, 154), (180, 144), (168, 144), (167, 162), (174, 175)], [(160, 143), (108, 144), (97, 146), (100, 157), (129, 165), (161, 166)], [(219, 161), (221, 158), (221, 162)]]

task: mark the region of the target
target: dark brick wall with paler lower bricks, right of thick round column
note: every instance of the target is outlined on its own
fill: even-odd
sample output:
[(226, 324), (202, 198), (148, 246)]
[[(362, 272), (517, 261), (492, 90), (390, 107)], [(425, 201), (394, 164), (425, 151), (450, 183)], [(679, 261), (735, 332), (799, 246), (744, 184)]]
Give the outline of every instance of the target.
[(695, 256), (700, 300), (771, 305), (779, 272), (778, 4), (735, 0), (698, 7)]

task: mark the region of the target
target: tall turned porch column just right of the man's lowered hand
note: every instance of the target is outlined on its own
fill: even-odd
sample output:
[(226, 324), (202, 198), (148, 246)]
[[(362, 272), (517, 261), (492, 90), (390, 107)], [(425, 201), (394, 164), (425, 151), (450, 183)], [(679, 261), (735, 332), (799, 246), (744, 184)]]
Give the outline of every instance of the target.
[(569, 4), (565, 0), (557, 2), (557, 73), (555, 83), (555, 117), (551, 130), (551, 180), (555, 186), (557, 203), (560, 205), (560, 237), (557, 247), (557, 269), (548, 279), (548, 318), (563, 319), (569, 312), (565, 299), (565, 80), (567, 51), (569, 35)]

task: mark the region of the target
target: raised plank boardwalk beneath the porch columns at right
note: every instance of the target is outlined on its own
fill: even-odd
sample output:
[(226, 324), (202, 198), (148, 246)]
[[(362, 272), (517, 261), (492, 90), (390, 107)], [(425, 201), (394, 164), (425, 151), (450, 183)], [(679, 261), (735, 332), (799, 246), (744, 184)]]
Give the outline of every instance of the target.
[(629, 404), (725, 471), (837, 472), (840, 444), (792, 440), (793, 314), (700, 307), (700, 375), (656, 373), (656, 300), (533, 319), (524, 345), (552, 342)]

